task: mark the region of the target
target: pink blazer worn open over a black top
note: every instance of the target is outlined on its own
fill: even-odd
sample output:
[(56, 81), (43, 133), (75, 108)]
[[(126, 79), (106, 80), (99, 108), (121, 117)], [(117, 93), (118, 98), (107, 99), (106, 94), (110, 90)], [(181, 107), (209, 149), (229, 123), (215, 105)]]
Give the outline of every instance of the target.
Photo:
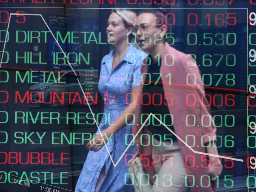
[[(173, 127), (175, 133), (186, 142), (187, 135), (193, 136), (187, 137), (187, 144), (189, 146), (193, 146), (193, 140), (195, 140), (195, 146), (191, 147), (195, 151), (206, 152), (206, 148), (201, 146), (201, 137), (203, 135), (207, 135), (203, 138), (203, 143), (206, 144), (209, 141), (213, 140), (215, 136), (216, 127), (213, 126), (212, 118), (204, 118), (204, 125), (209, 125), (209, 121), (211, 121), (211, 126), (209, 127), (202, 127), (201, 126), (201, 116), (202, 115), (210, 115), (210, 107), (205, 107), (201, 102), (202, 94), (204, 94), (204, 87), (202, 86), (202, 78), (200, 70), (198, 66), (193, 61), (191, 55), (184, 54), (173, 47), (165, 44), (164, 51), (161, 55), (161, 68), (160, 73), (162, 74), (161, 80), (163, 82), (163, 90), (165, 95), (167, 96), (167, 104), (169, 108), (170, 114), (173, 114)], [(166, 59), (165, 59), (166, 58)], [(165, 64), (166, 61), (166, 64)], [(171, 66), (167, 66), (171, 65)], [(148, 67), (143, 65), (141, 68), (143, 73), (148, 71)], [(169, 73), (171, 73), (171, 85), (169, 85)], [(188, 75), (189, 74), (189, 75)], [(144, 76), (145, 77), (145, 76)], [(190, 86), (194, 85), (196, 81), (196, 85), (199, 86)], [(143, 85), (141, 86), (140, 95), (143, 90)], [(186, 96), (188, 96), (187, 102), (189, 105), (186, 105)], [(173, 101), (172, 99), (173, 98)], [(194, 100), (195, 99), (195, 100)], [(195, 103), (194, 103), (195, 101)], [(171, 103), (173, 104), (171, 105)], [(205, 99), (204, 103), (207, 103)], [(135, 135), (139, 128), (141, 127), (140, 117), (142, 113), (141, 109), (141, 98), (139, 96), (137, 108), (135, 110), (135, 123), (132, 127), (133, 134)], [(191, 114), (187, 118), (187, 124), (193, 125), (194, 119), (192, 115), (195, 115), (195, 126), (187, 126), (186, 125), (186, 115)], [(153, 117), (152, 117), (153, 118)], [(209, 120), (207, 120), (209, 119)], [(210, 120), (211, 119), (211, 120)], [(139, 126), (137, 126), (139, 124)], [(137, 146), (137, 150), (139, 154), (149, 154), (150, 155), (150, 165), (152, 162), (151, 154), (152, 154), (152, 146), (141, 146), (140, 138), (141, 134), (149, 134), (150, 140), (152, 133), (148, 131), (147, 126), (144, 126), (143, 129), (140, 131), (139, 135), (135, 138), (135, 144)], [(145, 136), (145, 135), (144, 135)], [(145, 137), (143, 138), (145, 139)], [(187, 175), (194, 175), (195, 177), (195, 184), (193, 185), (193, 177), (189, 176), (188, 184), (192, 186), (190, 188), (191, 192), (210, 192), (213, 190), (217, 190), (217, 182), (216, 180), (210, 181), (208, 180), (207, 176), (202, 177), (202, 185), (208, 186), (208, 183), (211, 182), (210, 187), (201, 187), (200, 185), (200, 178), (202, 175), (209, 175), (208, 168), (202, 168), (202, 166), (206, 167), (207, 162), (201, 161), (200, 154), (194, 153), (191, 151), (185, 144), (183, 144), (179, 139), (178, 142), (180, 144), (182, 155), (185, 159), (187, 155), (193, 155), (195, 157), (195, 161), (193, 161), (193, 157), (187, 158), (187, 165), (191, 166), (191, 168), (187, 168)], [(150, 144), (151, 141), (150, 141)], [(204, 157), (206, 159), (206, 157)], [(145, 162), (143, 162), (145, 161)], [(147, 160), (143, 160), (142, 164), (147, 164)], [(195, 165), (193, 166), (193, 163)], [(175, 166), (175, 165), (174, 165)], [(150, 179), (154, 182), (155, 179), (152, 177), (154, 176), (155, 170), (152, 166), (144, 167), (146, 172), (150, 175)], [(173, 177), (175, 177), (175, 173)]]

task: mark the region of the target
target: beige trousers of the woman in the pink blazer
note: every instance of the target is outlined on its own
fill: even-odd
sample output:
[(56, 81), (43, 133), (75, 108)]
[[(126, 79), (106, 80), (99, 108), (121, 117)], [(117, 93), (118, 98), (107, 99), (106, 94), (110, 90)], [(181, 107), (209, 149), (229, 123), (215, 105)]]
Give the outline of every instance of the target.
[[(154, 145), (159, 145), (160, 142), (160, 146), (153, 146), (152, 148), (154, 169), (158, 174), (158, 179), (154, 182), (151, 192), (188, 192), (189, 187), (185, 186), (186, 167), (180, 145), (177, 141), (170, 146), (170, 142), (154, 139)], [(164, 143), (167, 146), (164, 146)], [(161, 161), (159, 161), (159, 155)], [(163, 157), (165, 159), (164, 164)]]

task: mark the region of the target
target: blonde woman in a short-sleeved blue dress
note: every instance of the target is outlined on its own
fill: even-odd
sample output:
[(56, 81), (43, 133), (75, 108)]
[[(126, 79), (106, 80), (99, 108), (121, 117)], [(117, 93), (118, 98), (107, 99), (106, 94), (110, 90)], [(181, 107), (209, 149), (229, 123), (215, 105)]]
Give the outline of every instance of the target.
[[(135, 103), (137, 100), (141, 85), (141, 65), (147, 56), (134, 45), (136, 44), (134, 25), (135, 13), (132, 11), (126, 9), (111, 11), (106, 33), (113, 49), (101, 61), (98, 84), (100, 94), (104, 97), (107, 93), (108, 99), (105, 101), (100, 131), (97, 131), (99, 134), (86, 145), (90, 151), (76, 184), (76, 192), (134, 191), (133, 186), (126, 185), (130, 182), (130, 178), (125, 177), (128, 168), (124, 164), (124, 155), (136, 151), (135, 146), (130, 146), (125, 151), (127, 145), (124, 141), (130, 143), (132, 140), (126, 137), (127, 134), (132, 133), (132, 126), (126, 125), (127, 121), (131, 121), (129, 118), (132, 116), (126, 118), (126, 114), (135, 111), (136, 105), (129, 103)], [(136, 79), (127, 74), (134, 74)], [(133, 95), (133, 97), (126, 98), (126, 95)]]

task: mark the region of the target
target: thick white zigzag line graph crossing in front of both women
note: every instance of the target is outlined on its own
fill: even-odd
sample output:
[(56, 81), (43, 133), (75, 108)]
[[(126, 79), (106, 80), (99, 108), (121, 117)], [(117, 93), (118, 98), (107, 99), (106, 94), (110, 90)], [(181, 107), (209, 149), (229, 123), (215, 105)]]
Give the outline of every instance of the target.
[[(59, 45), (59, 43), (58, 43), (56, 37), (54, 36), (54, 34), (52, 33), (52, 31), (50, 30), (49, 26), (47, 25), (45, 19), (43, 18), (43, 16), (42, 16), (41, 14), (33, 14), (33, 13), (11, 13), (11, 14), (10, 14), (10, 17), (9, 17), (8, 26), (7, 26), (7, 33), (8, 33), (8, 30), (9, 30), (9, 24), (10, 24), (10, 20), (11, 20), (11, 16), (12, 16), (12, 15), (40, 16), (40, 17), (43, 19), (43, 21), (45, 22), (45, 25), (46, 25), (46, 27), (48, 28), (48, 30), (50, 31), (52, 37), (53, 37), (54, 40), (56, 41), (56, 43), (57, 43), (59, 49), (61, 50), (61, 52), (63, 52), (63, 55), (65, 56), (65, 58), (67, 58), (67, 55), (65, 54), (65, 52), (63, 51), (63, 49), (62, 49), (61, 46)], [(7, 39), (7, 33), (6, 33), (6, 39)], [(5, 42), (4, 42), (4, 49), (5, 49), (5, 46), (6, 46), (6, 39), (5, 39)], [(4, 49), (3, 49), (3, 54), (4, 54)], [(3, 54), (2, 54), (2, 58), (1, 58), (0, 68), (1, 68), (1, 66), (2, 66)], [(69, 63), (68, 59), (67, 59), (67, 62), (68, 62), (68, 64), (69, 64), (70, 68), (72, 69), (72, 71), (74, 72), (74, 74), (77, 76), (76, 72), (74, 71), (74, 68), (73, 68), (72, 65)], [(77, 76), (77, 77), (78, 77), (78, 76)], [(80, 83), (80, 80), (79, 80), (78, 78), (76, 78), (76, 79), (77, 79), (77, 81), (78, 81), (78, 84), (80, 85), (80, 88), (81, 88), (82, 92), (83, 92), (83, 96), (85, 97), (85, 100), (86, 100), (87, 105), (88, 105), (88, 107), (89, 107), (89, 109), (90, 109), (90, 112), (91, 112), (91, 114), (93, 115), (93, 111), (92, 111), (91, 106), (89, 105), (89, 102), (88, 102), (88, 100), (87, 100), (87, 98), (86, 98), (86, 96), (85, 96), (85, 92), (84, 92), (83, 89), (82, 89), (82, 85), (81, 85), (81, 83)], [(201, 154), (201, 155), (209, 155), (209, 156), (212, 156), (212, 157), (220, 157), (220, 158), (223, 158), (223, 159), (230, 159), (230, 160), (234, 160), (234, 161), (243, 162), (243, 159), (237, 159), (237, 158), (233, 158), (233, 157), (225, 157), (225, 156), (222, 156), (222, 155), (215, 155), (215, 154), (211, 154), (211, 153), (204, 153), (204, 152), (200, 152), (200, 151), (195, 151), (195, 150), (193, 150), (193, 148), (191, 148), (184, 140), (182, 140), (182, 139), (181, 139), (178, 135), (176, 135), (171, 129), (169, 129), (169, 127), (167, 127), (163, 122), (161, 122), (160, 119), (158, 119), (154, 114), (150, 113), (150, 114), (148, 115), (147, 119), (145, 120), (145, 122), (144, 122), (144, 123), (142, 124), (142, 126), (140, 127), (139, 131), (136, 133), (136, 135), (134, 136), (134, 138), (133, 138), (132, 141), (130, 142), (130, 144), (127, 146), (127, 148), (126, 148), (126, 149), (124, 150), (124, 152), (122, 153), (121, 157), (120, 157), (120, 158), (118, 159), (118, 161), (115, 163), (115, 162), (113, 161), (113, 158), (112, 158), (110, 152), (109, 152), (108, 146), (107, 146), (107, 144), (106, 144), (106, 142), (105, 142), (105, 140), (104, 140), (104, 137), (103, 137), (103, 135), (102, 135), (102, 132), (100, 131), (100, 128), (99, 128), (99, 126), (98, 126), (98, 124), (97, 124), (96, 118), (95, 118), (95, 116), (93, 115), (93, 119), (94, 119), (94, 121), (95, 121), (95, 123), (96, 123), (96, 126), (97, 126), (97, 128), (98, 128), (98, 131), (100, 132), (100, 135), (101, 135), (101, 137), (102, 137), (102, 140), (103, 140), (103, 142), (104, 142), (104, 145), (105, 145), (105, 147), (106, 147), (106, 150), (108, 151), (109, 157), (110, 157), (110, 159), (111, 159), (111, 161), (112, 161), (114, 167), (116, 167), (117, 164), (121, 161), (122, 157), (124, 156), (124, 154), (126, 153), (126, 151), (128, 150), (128, 148), (132, 145), (132, 143), (134, 142), (134, 140), (135, 140), (135, 138), (137, 137), (137, 135), (139, 135), (139, 132), (140, 132), (141, 129), (145, 126), (145, 124), (147, 123), (147, 121), (148, 121), (148, 119), (150, 118), (150, 116), (153, 116), (154, 118), (156, 118), (156, 120), (158, 120), (158, 122), (160, 122), (166, 129), (168, 129), (171, 133), (173, 133), (173, 135), (174, 135), (175, 137), (177, 137), (183, 144), (185, 144), (185, 145), (186, 145), (191, 151), (193, 151), (194, 153)]]

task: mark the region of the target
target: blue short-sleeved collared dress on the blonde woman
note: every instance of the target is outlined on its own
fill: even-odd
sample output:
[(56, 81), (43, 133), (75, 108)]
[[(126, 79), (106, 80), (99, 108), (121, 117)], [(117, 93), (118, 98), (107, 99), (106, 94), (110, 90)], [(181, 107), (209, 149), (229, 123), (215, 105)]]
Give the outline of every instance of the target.
[[(111, 50), (101, 62), (98, 90), (103, 98), (105, 94), (104, 101), (106, 101), (104, 114), (99, 124), (101, 131), (108, 128), (109, 123), (113, 123), (130, 103), (132, 94), (127, 93), (131, 93), (133, 87), (141, 85), (141, 65), (147, 56), (131, 44), (122, 61), (112, 71), (113, 52), (114, 50)], [(125, 126), (107, 142), (115, 164), (132, 140), (132, 135), (128, 135), (131, 133), (132, 126)], [(135, 152), (135, 145), (131, 145), (125, 154), (134, 154)], [(130, 175), (125, 175), (128, 173), (128, 168), (125, 165), (124, 157), (125, 155), (114, 167), (106, 146), (97, 152), (89, 151), (75, 192), (94, 192), (104, 164), (106, 164), (106, 175), (98, 187), (98, 192), (133, 192), (133, 185), (129, 185), (131, 184)], [(127, 155), (126, 162), (131, 158), (132, 155)]]

